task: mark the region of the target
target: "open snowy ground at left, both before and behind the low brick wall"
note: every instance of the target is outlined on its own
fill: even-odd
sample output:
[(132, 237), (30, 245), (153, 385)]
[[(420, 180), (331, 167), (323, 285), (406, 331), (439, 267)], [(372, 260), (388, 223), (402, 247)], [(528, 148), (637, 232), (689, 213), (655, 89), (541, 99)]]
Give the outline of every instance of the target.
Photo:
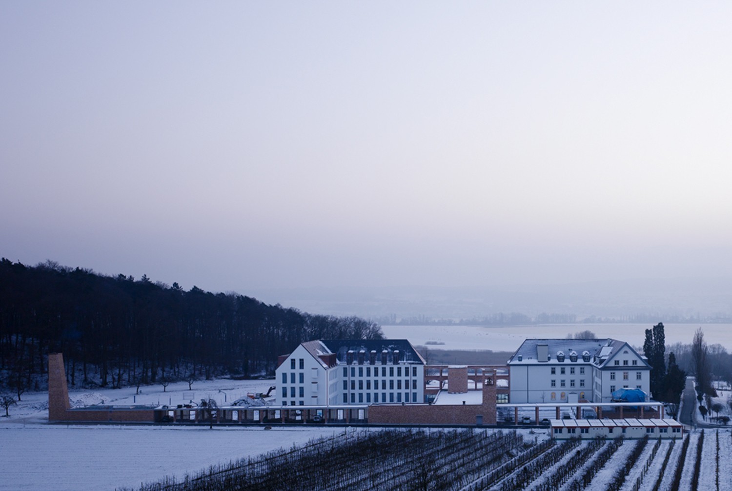
[[(212, 397), (220, 404), (266, 392), (274, 381), (217, 380), (163, 387), (70, 391), (82, 404), (167, 404)], [(114, 490), (209, 465), (307, 443), (340, 428), (168, 427), (48, 424), (48, 393), (23, 394), (10, 418), (0, 418), (0, 490)], [(226, 399), (226, 401), (225, 401)], [(186, 400), (186, 402), (187, 402)], [(2, 413), (4, 415), (4, 411)]]

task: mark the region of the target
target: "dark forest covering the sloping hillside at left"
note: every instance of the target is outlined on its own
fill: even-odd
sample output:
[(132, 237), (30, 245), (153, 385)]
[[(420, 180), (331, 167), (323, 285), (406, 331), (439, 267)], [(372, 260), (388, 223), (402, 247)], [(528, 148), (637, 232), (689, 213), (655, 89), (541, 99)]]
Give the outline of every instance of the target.
[(272, 374), (277, 356), (320, 338), (381, 339), (361, 318), (310, 315), (256, 299), (184, 291), (47, 261), (0, 260), (0, 386), (45, 373), (45, 355), (64, 353), (70, 381), (154, 383), (217, 372)]

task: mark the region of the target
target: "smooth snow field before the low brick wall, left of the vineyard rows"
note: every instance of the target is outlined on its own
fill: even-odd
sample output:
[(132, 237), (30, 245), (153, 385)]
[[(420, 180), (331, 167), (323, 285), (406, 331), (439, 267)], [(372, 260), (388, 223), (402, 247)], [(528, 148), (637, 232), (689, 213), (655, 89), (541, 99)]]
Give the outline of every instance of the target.
[[(183, 477), (209, 465), (304, 444), (332, 427), (34, 426), (0, 430), (0, 490), (97, 491)], [(51, 485), (51, 483), (53, 483)]]

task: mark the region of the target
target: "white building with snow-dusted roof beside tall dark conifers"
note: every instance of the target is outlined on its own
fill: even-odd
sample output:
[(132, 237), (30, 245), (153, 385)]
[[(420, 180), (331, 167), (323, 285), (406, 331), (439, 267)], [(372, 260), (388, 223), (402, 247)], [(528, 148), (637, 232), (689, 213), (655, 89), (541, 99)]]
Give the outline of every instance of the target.
[(650, 392), (646, 357), (609, 338), (526, 340), (508, 365), (513, 403), (610, 402), (617, 389)]

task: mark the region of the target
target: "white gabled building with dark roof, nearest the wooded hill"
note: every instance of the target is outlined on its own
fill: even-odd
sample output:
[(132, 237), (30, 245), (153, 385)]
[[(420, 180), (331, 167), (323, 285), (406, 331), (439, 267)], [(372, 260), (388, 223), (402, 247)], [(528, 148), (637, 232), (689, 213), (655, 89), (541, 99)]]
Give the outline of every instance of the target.
[(425, 360), (407, 340), (306, 341), (279, 361), (277, 400), (282, 405), (425, 400)]

